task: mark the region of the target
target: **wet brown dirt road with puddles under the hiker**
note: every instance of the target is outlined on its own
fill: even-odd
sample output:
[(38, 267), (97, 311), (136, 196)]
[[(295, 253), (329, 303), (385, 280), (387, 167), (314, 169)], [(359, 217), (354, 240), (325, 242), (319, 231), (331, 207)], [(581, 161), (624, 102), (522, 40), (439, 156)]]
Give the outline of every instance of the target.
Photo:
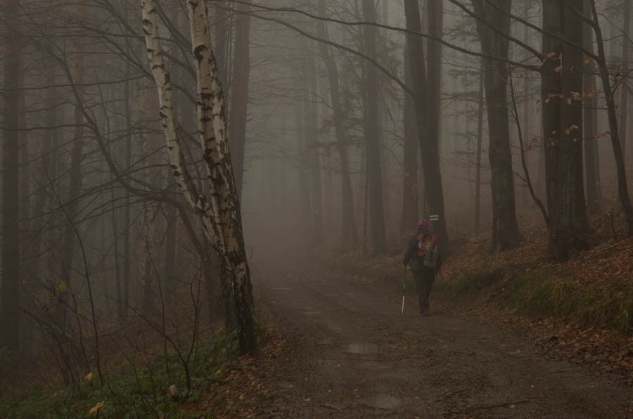
[(529, 336), (433, 302), (421, 317), (415, 295), (402, 315), (397, 290), (316, 269), (254, 284), (295, 337), (242, 406), (258, 417), (633, 417), (633, 389), (617, 375), (545, 359)]

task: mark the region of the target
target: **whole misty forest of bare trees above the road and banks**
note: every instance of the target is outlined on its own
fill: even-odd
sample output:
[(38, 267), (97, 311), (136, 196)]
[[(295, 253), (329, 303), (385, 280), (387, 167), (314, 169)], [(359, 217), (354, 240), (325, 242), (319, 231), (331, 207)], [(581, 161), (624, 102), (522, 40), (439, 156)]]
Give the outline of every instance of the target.
[(630, 3), (1, 1), (0, 363), (252, 352), (252, 276), (430, 215), (633, 233)]

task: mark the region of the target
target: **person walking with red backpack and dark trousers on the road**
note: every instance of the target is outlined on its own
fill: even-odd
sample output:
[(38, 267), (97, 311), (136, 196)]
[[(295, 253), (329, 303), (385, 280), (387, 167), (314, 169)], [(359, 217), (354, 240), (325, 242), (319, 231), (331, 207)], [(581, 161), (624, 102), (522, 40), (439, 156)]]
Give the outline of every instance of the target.
[(435, 274), (442, 267), (440, 247), (437, 245), (437, 238), (431, 231), (428, 220), (418, 221), (418, 232), (409, 243), (402, 262), (404, 262), (404, 266), (411, 263), (410, 268), (416, 280), (420, 314), (428, 316), (428, 297), (431, 286), (435, 281)]

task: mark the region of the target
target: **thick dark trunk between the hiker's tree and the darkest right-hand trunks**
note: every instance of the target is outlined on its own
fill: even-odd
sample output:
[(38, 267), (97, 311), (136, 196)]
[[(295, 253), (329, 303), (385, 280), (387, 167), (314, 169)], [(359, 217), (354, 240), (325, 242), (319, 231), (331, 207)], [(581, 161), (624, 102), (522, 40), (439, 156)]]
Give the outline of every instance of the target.
[[(492, 0), (493, 7), (483, 0), (473, 0), (475, 13), (502, 34), (495, 32), (485, 22), (477, 20), (477, 32), (482, 52), (506, 60), (508, 58), (508, 36), (510, 33), (511, 8), (509, 0)], [(488, 159), (491, 170), (492, 189), (492, 251), (503, 251), (515, 247), (521, 238), (516, 221), (514, 174), (510, 149), (510, 127), (508, 121), (508, 70), (504, 61), (483, 58), (485, 67), (484, 85), (488, 113), (490, 146)]]

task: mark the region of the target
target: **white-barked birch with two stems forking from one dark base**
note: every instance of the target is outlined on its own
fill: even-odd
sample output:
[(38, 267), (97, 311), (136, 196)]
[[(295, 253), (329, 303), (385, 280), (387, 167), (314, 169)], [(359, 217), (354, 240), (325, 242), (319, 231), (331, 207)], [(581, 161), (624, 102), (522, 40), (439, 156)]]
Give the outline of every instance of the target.
[(158, 88), (160, 120), (165, 131), (174, 180), (203, 225), (219, 254), (224, 281), (229, 284), (236, 311), (241, 354), (255, 350), (254, 303), (250, 270), (244, 248), (240, 203), (235, 186), (229, 142), (226, 138), (224, 93), (213, 55), (207, 5), (187, 1), (191, 51), (196, 69), (198, 134), (207, 168), (210, 195), (198, 189), (186, 167), (172, 102), (172, 84), (158, 36), (158, 15), (153, 0), (141, 0), (143, 32), (148, 59)]

